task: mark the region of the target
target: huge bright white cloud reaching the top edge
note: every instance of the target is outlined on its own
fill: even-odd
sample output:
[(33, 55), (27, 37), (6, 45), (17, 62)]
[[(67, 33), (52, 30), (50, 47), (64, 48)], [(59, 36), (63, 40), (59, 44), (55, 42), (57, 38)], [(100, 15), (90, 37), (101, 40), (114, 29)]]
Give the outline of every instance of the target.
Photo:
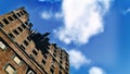
[(87, 44), (89, 39), (104, 32), (103, 16), (110, 0), (63, 0), (64, 25), (54, 30), (65, 44)]

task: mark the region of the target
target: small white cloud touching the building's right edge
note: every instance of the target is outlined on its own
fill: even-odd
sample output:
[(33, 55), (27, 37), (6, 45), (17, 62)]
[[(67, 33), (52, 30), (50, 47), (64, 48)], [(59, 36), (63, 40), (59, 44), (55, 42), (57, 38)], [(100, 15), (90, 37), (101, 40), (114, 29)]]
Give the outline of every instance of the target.
[(69, 50), (68, 51), (69, 54), (69, 62), (70, 62), (70, 66), (75, 67), (76, 70), (78, 70), (80, 66), (86, 65), (91, 63), (90, 59), (87, 59), (80, 51), (78, 50)]

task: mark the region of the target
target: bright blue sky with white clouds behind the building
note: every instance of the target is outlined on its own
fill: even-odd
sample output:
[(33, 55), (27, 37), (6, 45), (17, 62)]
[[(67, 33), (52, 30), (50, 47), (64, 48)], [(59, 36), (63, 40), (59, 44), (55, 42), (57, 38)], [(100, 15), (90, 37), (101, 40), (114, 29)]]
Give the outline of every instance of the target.
[(67, 50), (70, 74), (130, 74), (130, 0), (1, 0), (0, 15), (21, 7)]

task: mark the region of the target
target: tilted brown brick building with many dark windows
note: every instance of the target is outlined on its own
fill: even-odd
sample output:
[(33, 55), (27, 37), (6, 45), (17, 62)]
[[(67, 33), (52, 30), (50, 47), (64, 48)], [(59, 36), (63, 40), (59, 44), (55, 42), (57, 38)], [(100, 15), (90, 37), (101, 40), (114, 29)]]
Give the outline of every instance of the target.
[(31, 26), (25, 8), (0, 15), (0, 74), (69, 74), (68, 53)]

